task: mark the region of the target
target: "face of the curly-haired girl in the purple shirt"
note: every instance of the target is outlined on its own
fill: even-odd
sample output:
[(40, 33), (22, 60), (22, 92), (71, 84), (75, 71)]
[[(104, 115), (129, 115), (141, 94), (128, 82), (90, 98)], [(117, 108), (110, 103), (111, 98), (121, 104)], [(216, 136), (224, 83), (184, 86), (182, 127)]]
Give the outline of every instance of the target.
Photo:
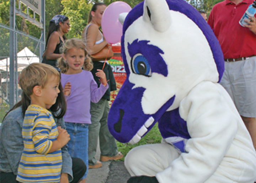
[(85, 51), (80, 48), (71, 48), (63, 54), (64, 60), (68, 63), (69, 68), (66, 74), (78, 74), (82, 72), (82, 65), (85, 60)]

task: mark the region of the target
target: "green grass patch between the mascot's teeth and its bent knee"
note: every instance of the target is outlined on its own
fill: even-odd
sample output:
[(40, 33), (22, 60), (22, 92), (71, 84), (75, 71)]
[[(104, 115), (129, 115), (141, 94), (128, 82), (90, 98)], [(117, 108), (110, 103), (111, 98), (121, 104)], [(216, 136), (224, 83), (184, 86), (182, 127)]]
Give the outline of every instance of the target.
[[(158, 129), (158, 123), (154, 125), (154, 127), (144, 136), (142, 139), (136, 143), (136, 144), (130, 144), (126, 143), (123, 144), (121, 142), (117, 142), (117, 148), (118, 151), (121, 151), (121, 153), (124, 155), (124, 157), (127, 155), (127, 153), (134, 147), (137, 147), (139, 145), (144, 144), (155, 144), (160, 143), (162, 139), (162, 136), (160, 135), (159, 129)], [(124, 161), (124, 157), (120, 159), (120, 161)]]

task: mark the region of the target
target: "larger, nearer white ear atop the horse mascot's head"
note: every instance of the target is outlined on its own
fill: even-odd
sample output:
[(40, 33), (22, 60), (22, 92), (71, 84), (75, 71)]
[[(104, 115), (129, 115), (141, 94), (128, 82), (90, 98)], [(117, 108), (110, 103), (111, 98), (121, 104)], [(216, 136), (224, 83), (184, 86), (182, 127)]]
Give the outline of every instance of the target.
[(156, 31), (165, 32), (171, 25), (171, 15), (166, 0), (145, 0), (143, 20), (150, 21)]

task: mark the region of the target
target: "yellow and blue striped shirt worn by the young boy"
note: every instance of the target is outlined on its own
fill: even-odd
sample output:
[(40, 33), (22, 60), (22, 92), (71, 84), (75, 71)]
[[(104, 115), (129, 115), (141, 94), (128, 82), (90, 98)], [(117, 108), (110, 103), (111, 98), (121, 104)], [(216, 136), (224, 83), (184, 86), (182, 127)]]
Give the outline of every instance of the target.
[(58, 137), (58, 129), (50, 111), (38, 105), (30, 105), (25, 113), (22, 137), (24, 150), (18, 167), (17, 181), (60, 182), (61, 149), (48, 153), (52, 142)]

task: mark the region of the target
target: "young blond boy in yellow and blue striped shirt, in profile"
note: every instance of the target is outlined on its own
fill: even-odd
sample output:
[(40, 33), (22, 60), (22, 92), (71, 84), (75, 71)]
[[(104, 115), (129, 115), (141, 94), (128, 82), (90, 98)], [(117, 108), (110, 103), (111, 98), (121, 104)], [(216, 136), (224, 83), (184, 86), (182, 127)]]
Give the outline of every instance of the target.
[(24, 150), (18, 167), (18, 182), (60, 182), (60, 148), (70, 138), (66, 130), (57, 129), (52, 114), (47, 110), (56, 102), (60, 92), (59, 81), (59, 72), (43, 63), (32, 63), (21, 72), (19, 84), (30, 97), (31, 104), (22, 127)]

